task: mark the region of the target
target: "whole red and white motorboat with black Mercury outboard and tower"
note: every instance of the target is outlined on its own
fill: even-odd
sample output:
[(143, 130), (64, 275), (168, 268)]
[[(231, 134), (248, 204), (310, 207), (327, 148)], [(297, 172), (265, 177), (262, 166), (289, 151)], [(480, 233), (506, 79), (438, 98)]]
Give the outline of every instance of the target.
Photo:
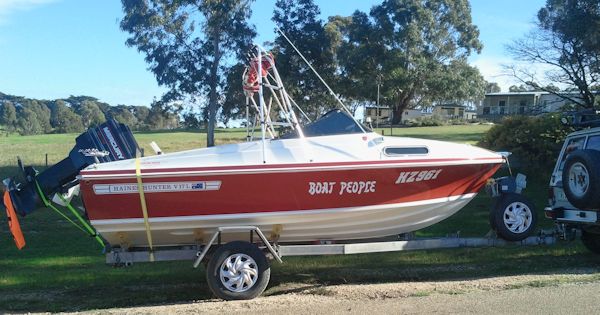
[(230, 226), (283, 244), (371, 239), (446, 219), (505, 162), (476, 146), (382, 136), (343, 103), (302, 126), (307, 117), (260, 48), (243, 82), (256, 138), (249, 127), (248, 142), (142, 157), (131, 131), (109, 121), (57, 166), (23, 168), (25, 184), (5, 180), (10, 207), (24, 216), (79, 193), (83, 216), (113, 248), (203, 244)]

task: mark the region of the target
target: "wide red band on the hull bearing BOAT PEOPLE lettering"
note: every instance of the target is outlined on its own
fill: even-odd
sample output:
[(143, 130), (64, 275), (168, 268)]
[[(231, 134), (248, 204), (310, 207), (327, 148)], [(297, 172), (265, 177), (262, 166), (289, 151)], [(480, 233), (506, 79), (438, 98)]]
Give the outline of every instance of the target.
[[(149, 217), (317, 210), (476, 193), (499, 167), (481, 163), (327, 172), (166, 175), (144, 178), (144, 189), (148, 189)], [(208, 189), (208, 183), (217, 182), (214, 189)], [(131, 178), (82, 180), (81, 192), (89, 218), (138, 218), (139, 196), (130, 188), (134, 183)]]

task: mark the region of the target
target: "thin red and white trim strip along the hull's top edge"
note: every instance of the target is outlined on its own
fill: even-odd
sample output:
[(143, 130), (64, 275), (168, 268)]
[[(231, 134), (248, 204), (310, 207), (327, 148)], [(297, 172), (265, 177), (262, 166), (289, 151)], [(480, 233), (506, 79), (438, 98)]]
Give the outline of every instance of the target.
[[(176, 176), (176, 175), (221, 175), (221, 174), (249, 174), (249, 173), (275, 173), (275, 172), (311, 172), (340, 169), (361, 168), (386, 168), (386, 167), (427, 167), (463, 164), (500, 164), (501, 158), (475, 158), (475, 159), (420, 159), (420, 160), (393, 160), (393, 161), (361, 161), (361, 162), (330, 162), (330, 163), (301, 163), (301, 164), (273, 164), (273, 165), (236, 165), (217, 167), (189, 167), (189, 168), (160, 168), (142, 170), (144, 177)], [(135, 169), (128, 170), (83, 170), (82, 179), (91, 178), (119, 178), (135, 175)]]

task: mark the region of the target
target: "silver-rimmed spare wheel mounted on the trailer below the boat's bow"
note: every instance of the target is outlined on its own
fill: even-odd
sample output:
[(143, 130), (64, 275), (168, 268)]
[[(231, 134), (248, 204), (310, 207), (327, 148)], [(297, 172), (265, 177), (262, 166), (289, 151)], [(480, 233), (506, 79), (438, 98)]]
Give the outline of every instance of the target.
[(504, 194), (498, 197), (493, 210), (496, 233), (507, 241), (522, 241), (534, 230), (537, 213), (533, 204), (519, 194)]

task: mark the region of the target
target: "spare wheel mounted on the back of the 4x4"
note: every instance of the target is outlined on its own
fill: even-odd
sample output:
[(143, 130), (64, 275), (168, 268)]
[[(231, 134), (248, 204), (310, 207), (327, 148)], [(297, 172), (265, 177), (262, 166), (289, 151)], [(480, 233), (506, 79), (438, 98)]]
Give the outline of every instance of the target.
[(562, 175), (569, 202), (579, 209), (600, 207), (600, 152), (576, 150), (567, 156)]

